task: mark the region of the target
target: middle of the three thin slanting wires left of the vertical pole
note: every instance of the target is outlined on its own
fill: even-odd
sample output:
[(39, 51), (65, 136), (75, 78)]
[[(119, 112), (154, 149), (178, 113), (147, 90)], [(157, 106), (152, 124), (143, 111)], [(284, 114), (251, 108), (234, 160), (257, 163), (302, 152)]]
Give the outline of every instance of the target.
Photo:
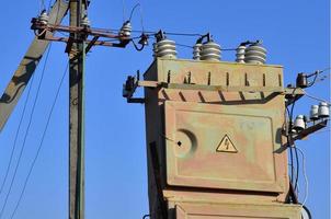
[(35, 100), (33, 102), (32, 112), (31, 112), (31, 115), (30, 115), (30, 118), (28, 118), (26, 130), (25, 130), (25, 135), (24, 135), (24, 139), (23, 139), (23, 145), (22, 145), (22, 148), (21, 148), (21, 151), (20, 151), (20, 154), (19, 154), (19, 159), (18, 159), (18, 162), (16, 162), (16, 165), (15, 165), (15, 169), (14, 169), (13, 176), (11, 178), (9, 191), (8, 191), (7, 195), (5, 195), (4, 203), (3, 203), (2, 207), (1, 207), (0, 219), (3, 216), (3, 211), (4, 211), (4, 208), (5, 208), (7, 204), (8, 204), (8, 198), (10, 196), (10, 194), (11, 194), (12, 186), (13, 186), (13, 183), (15, 181), (16, 173), (18, 173), (18, 170), (19, 170), (19, 166), (20, 166), (20, 163), (21, 163), (21, 159), (22, 159), (22, 155), (23, 155), (23, 151), (24, 151), (25, 143), (26, 143), (26, 138), (27, 138), (27, 135), (28, 135), (28, 131), (30, 131), (30, 127), (31, 127), (31, 124), (32, 124), (32, 118), (33, 118), (33, 115), (34, 115), (35, 106), (36, 106), (36, 103), (37, 103), (37, 100), (38, 100), (38, 96), (39, 96), (39, 91), (41, 91), (42, 82), (43, 82), (43, 79), (44, 79), (44, 74), (45, 74), (45, 70), (46, 70), (46, 66), (47, 66), (50, 48), (52, 48), (52, 44), (48, 47), (48, 50), (47, 50), (47, 54), (46, 54), (44, 67), (43, 67), (43, 70), (42, 70), (41, 80), (39, 80), (39, 83), (38, 83), (38, 87), (37, 87), (37, 91), (36, 91), (36, 96), (35, 96)]

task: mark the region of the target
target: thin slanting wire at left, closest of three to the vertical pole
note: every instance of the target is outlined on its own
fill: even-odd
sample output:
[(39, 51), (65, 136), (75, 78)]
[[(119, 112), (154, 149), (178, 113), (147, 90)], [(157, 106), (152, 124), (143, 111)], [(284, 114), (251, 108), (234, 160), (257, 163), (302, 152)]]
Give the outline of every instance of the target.
[(19, 206), (20, 206), (20, 204), (21, 204), (21, 201), (22, 201), (22, 198), (23, 198), (23, 195), (24, 195), (26, 185), (27, 185), (27, 183), (28, 183), (30, 176), (31, 176), (31, 174), (32, 174), (32, 171), (33, 171), (33, 169), (34, 169), (34, 165), (35, 165), (35, 163), (36, 163), (36, 161), (37, 161), (37, 158), (38, 158), (39, 152), (41, 152), (41, 150), (42, 150), (42, 147), (43, 147), (43, 145), (44, 145), (45, 136), (46, 136), (46, 132), (47, 132), (47, 130), (48, 130), (48, 126), (49, 126), (49, 122), (50, 122), (50, 118), (52, 118), (52, 115), (53, 115), (53, 111), (54, 111), (54, 108), (55, 108), (55, 105), (56, 105), (58, 95), (59, 95), (59, 93), (60, 93), (60, 89), (61, 89), (61, 87), (62, 87), (65, 77), (66, 77), (66, 74), (67, 74), (67, 72), (68, 72), (68, 67), (69, 67), (69, 65), (67, 65), (66, 70), (65, 70), (65, 72), (64, 72), (64, 74), (62, 74), (62, 77), (61, 77), (61, 79), (60, 79), (60, 83), (59, 83), (59, 85), (58, 85), (58, 88), (57, 88), (56, 95), (55, 95), (55, 99), (54, 99), (54, 101), (53, 101), (53, 104), (52, 104), (52, 107), (50, 107), (50, 111), (49, 111), (49, 114), (48, 114), (48, 117), (47, 117), (47, 122), (46, 122), (46, 125), (45, 125), (45, 128), (44, 128), (44, 131), (43, 131), (42, 140), (41, 140), (41, 142), (39, 142), (39, 146), (38, 146), (38, 148), (37, 148), (37, 152), (36, 152), (35, 157), (34, 157), (34, 159), (33, 159), (33, 162), (32, 162), (32, 164), (31, 164), (31, 166), (30, 166), (28, 174), (27, 174), (27, 176), (26, 176), (26, 178), (25, 178), (23, 189), (22, 189), (22, 192), (21, 192), (21, 194), (20, 194), (20, 198), (19, 198), (19, 200), (18, 200), (18, 203), (16, 203), (16, 205), (15, 205), (15, 208), (14, 208), (14, 210), (13, 210), (11, 217), (10, 217), (11, 219), (15, 216), (15, 214), (16, 214), (16, 211), (18, 211), (18, 209), (19, 209)]

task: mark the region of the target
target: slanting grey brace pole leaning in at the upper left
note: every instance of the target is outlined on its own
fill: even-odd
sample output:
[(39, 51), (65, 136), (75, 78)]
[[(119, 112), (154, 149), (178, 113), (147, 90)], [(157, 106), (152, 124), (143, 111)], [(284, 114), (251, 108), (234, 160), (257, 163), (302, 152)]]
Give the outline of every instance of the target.
[[(68, 2), (58, 0), (55, 2), (49, 13), (49, 23), (59, 24), (68, 11)], [(52, 33), (47, 33), (52, 35)], [(9, 82), (4, 93), (0, 99), (0, 130), (2, 130), (9, 116), (19, 102), (32, 74), (38, 66), (49, 42), (34, 38), (26, 54), (24, 55), (18, 70)]]

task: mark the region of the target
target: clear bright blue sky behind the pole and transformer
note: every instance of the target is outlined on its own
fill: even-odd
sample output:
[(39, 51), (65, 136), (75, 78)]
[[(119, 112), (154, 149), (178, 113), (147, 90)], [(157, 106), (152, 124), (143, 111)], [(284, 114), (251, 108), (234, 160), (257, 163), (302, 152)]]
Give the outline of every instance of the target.
[[(45, 1), (48, 4), (48, 0)], [(125, 16), (138, 1), (125, 0)], [(269, 50), (267, 62), (284, 66), (285, 82), (295, 82), (298, 72), (312, 72), (330, 66), (330, 2), (329, 0), (278, 1), (149, 1), (140, 0), (146, 30), (201, 33), (208, 31), (222, 48), (233, 48), (247, 39), (262, 39)], [(3, 1), (0, 13), (1, 66), (0, 92), (11, 79), (30, 42), (31, 18), (38, 14), (41, 1)], [(91, 1), (89, 18), (92, 26), (118, 28), (123, 22), (122, 0)], [(133, 16), (135, 30), (140, 30), (139, 13)], [(172, 37), (178, 43), (193, 45), (194, 37)], [(2, 218), (9, 218), (22, 189), (32, 159), (36, 153), (43, 128), (56, 89), (67, 65), (65, 45), (54, 43), (43, 80), (31, 131), (19, 168), (12, 194)], [(192, 58), (192, 51), (180, 47), (180, 58)], [(233, 53), (225, 51), (224, 60), (235, 60)], [(127, 104), (122, 97), (122, 83), (136, 70), (145, 71), (152, 61), (150, 46), (138, 53), (127, 49), (93, 48), (87, 62), (87, 218), (140, 218), (148, 214), (145, 114), (144, 106)], [(31, 112), (41, 79), (42, 65), (28, 102)], [(328, 74), (329, 72), (327, 72)], [(307, 90), (308, 93), (330, 97), (328, 80)], [(19, 103), (0, 134), (0, 183), (4, 177), (14, 134), (23, 110)], [(308, 114), (318, 102), (304, 97), (295, 115)], [(27, 114), (23, 127), (27, 126)], [(24, 129), (23, 129), (24, 130)], [(22, 147), (20, 132), (18, 150)], [(297, 146), (306, 153), (309, 178), (307, 206), (313, 218), (330, 218), (330, 132), (319, 132)], [(11, 169), (10, 174), (12, 174)], [(3, 205), (5, 189), (0, 194)], [(304, 177), (300, 175), (300, 199)], [(55, 107), (39, 158), (15, 218), (67, 218), (68, 210), (68, 78)]]

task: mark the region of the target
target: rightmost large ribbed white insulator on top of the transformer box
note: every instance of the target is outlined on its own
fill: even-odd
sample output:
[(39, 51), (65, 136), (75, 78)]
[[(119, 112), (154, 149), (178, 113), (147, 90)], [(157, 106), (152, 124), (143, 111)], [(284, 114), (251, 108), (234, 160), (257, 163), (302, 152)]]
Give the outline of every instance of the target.
[(255, 43), (250, 45), (244, 50), (244, 62), (246, 64), (265, 64), (266, 60), (266, 49), (261, 43)]

